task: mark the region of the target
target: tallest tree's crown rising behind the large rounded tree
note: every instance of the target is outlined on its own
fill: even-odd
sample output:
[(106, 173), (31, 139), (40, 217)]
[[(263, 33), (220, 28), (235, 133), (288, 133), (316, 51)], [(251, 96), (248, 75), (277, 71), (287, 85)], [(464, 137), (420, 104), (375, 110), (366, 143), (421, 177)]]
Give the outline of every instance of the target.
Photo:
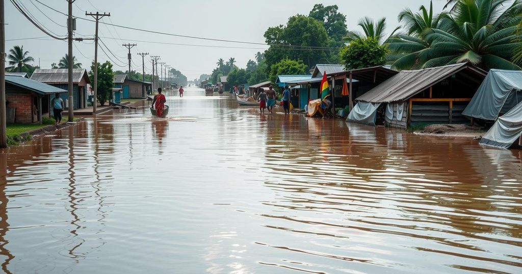
[(339, 13), (337, 5), (324, 6), (315, 4), (309, 16), (317, 21), (323, 22), (326, 33), (335, 41), (341, 41), (346, 35), (346, 15)]

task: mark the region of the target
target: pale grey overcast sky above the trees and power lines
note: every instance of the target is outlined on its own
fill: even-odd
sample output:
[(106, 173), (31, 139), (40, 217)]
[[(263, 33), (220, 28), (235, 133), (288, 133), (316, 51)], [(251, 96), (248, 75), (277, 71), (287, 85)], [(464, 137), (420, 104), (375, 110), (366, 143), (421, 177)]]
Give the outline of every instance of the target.
[[(66, 17), (62, 14), (42, 6), (34, 0), (18, 0), (23, 3), (30, 13), (41, 22), (43, 26), (58, 35), (66, 35)], [(67, 13), (67, 2), (64, 0), (40, 0), (41, 2)], [(264, 43), (263, 34), (268, 27), (285, 24), (288, 17), (295, 14), (308, 15), (314, 4), (338, 5), (339, 11), (347, 16), (349, 30), (358, 29), (357, 22), (364, 16), (374, 19), (386, 17), (387, 30), (398, 26), (397, 15), (405, 7), (416, 11), (420, 5), (428, 6), (429, 0), (76, 0), (73, 4), (73, 14), (80, 18), (85, 16), (85, 11), (105, 11), (111, 13), (111, 17), (102, 19), (104, 22), (114, 23), (128, 27), (155, 30), (166, 33), (191, 35), (197, 37), (226, 39), (246, 42)], [(444, 0), (434, 0), (435, 11), (441, 11)], [(34, 4), (34, 5), (33, 5)], [(44, 37), (45, 34), (35, 28), (9, 1), (6, 1), (6, 48), (14, 45), (23, 45), (23, 49), (34, 57), (35, 64), (42, 68), (50, 68), (51, 63), (58, 63), (60, 58), (67, 53), (67, 43), (64, 41), (45, 39), (16, 40), (22, 38)], [(39, 9), (37, 9), (37, 7)], [(43, 13), (42, 13), (43, 11)], [(50, 17), (47, 18), (45, 15)], [(54, 20), (55, 22), (51, 21)], [(58, 26), (62, 25), (62, 26)], [(94, 23), (77, 20), (76, 35), (92, 36)], [(228, 59), (235, 57), (240, 67), (245, 67), (248, 59), (254, 59), (254, 54), (263, 51), (266, 46), (238, 44), (229, 42), (205, 41), (128, 30), (118, 27), (100, 24), (99, 35), (109, 49), (116, 55), (111, 56), (116, 63), (114, 69), (126, 70), (127, 49), (123, 43), (136, 43), (131, 50), (133, 54), (133, 69), (141, 72), (141, 56), (138, 52), (148, 52), (151, 55), (161, 56), (161, 61), (181, 70), (188, 79), (198, 78), (199, 75), (210, 73), (216, 67), (218, 58)], [(9, 41), (11, 40), (11, 41)], [(150, 42), (155, 43), (150, 43)], [(160, 42), (160, 43), (158, 43)], [(204, 46), (172, 45), (161, 43), (177, 43)], [(84, 67), (90, 67), (94, 56), (94, 44), (92, 41), (75, 42), (74, 55)], [(226, 47), (207, 46), (231, 46), (246, 47), (247, 49), (231, 49)], [(150, 56), (150, 55), (149, 55)], [(146, 57), (146, 73), (151, 72), (150, 57)], [(108, 59), (99, 50), (99, 61)], [(118, 65), (120, 67), (118, 67)], [(123, 67), (121, 67), (123, 66)]]

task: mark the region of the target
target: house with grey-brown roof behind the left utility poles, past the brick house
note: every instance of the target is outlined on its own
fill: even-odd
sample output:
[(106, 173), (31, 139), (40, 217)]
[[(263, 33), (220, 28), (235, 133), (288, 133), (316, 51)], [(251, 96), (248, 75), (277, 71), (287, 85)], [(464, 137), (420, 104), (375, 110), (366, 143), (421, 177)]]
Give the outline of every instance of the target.
[[(41, 69), (34, 70), (31, 75), (31, 79), (42, 82), (57, 88), (64, 90), (68, 89), (68, 69), (67, 68), (53, 68), (53, 69)], [(73, 105), (74, 109), (85, 109), (87, 108), (87, 84), (91, 84), (89, 75), (85, 68), (74, 68), (73, 69)], [(65, 108), (68, 108), (69, 96), (67, 93), (61, 94), (62, 100), (64, 100)]]

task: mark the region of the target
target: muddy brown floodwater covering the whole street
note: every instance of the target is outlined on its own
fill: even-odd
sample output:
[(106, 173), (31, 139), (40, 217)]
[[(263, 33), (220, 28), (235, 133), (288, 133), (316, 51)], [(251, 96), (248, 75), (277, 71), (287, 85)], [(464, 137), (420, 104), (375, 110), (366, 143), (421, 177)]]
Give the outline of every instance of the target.
[(4, 272), (522, 272), (520, 151), (167, 99), (1, 152)]

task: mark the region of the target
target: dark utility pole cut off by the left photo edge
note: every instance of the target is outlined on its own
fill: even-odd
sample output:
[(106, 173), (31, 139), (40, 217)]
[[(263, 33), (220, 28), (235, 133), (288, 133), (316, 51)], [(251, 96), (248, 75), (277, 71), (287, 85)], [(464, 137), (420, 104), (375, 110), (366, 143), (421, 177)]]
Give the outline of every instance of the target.
[(5, 14), (4, 0), (0, 0), (0, 148), (7, 147), (5, 106)]

